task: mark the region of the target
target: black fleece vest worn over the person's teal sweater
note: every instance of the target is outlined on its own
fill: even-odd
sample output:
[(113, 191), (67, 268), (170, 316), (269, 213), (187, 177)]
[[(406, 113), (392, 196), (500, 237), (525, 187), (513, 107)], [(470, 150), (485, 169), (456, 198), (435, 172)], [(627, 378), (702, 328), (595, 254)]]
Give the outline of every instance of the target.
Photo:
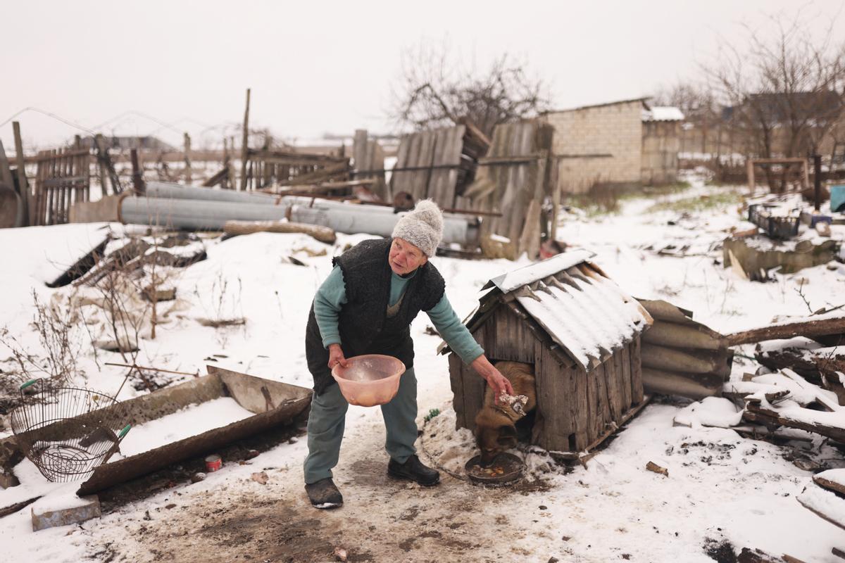
[[(363, 241), (333, 261), (341, 267), (346, 284), (346, 304), (341, 307), (338, 319), (341, 348), (347, 358), (362, 354), (391, 355), (410, 368), (414, 365), (411, 322), (419, 311), (429, 311), (437, 305), (443, 297), (445, 283), (437, 268), (426, 262), (406, 285), (398, 311), (388, 317), (392, 270), (387, 260), (391, 242), (390, 239)], [(335, 380), (327, 365), (329, 350), (323, 346), (313, 303), (308, 313), (305, 356), (314, 379), (314, 392), (320, 394)]]

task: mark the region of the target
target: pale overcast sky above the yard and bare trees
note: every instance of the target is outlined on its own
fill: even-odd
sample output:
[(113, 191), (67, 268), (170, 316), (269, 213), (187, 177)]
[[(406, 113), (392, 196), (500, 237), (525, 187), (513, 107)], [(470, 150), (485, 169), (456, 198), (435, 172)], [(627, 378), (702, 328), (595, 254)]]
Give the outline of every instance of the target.
[[(197, 147), (243, 119), (251, 88), (250, 125), (280, 138), (386, 133), (401, 53), (421, 41), (481, 68), (503, 53), (525, 60), (562, 109), (695, 76), (720, 39), (742, 41), (742, 25), (766, 26), (767, 14), (800, 9), (817, 31), (837, 18), (845, 37), (843, 2), (0, 0), (0, 123), (35, 107), (102, 133), (181, 144), (186, 130)], [(15, 119), (28, 147), (80, 133), (35, 111)], [(11, 122), (0, 139), (14, 150)]]

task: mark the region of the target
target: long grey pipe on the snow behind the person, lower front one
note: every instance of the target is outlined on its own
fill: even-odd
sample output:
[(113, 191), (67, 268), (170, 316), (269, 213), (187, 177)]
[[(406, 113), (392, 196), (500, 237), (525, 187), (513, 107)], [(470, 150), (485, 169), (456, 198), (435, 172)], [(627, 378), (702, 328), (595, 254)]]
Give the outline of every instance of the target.
[[(149, 185), (147, 189), (149, 192)], [(390, 208), (335, 202), (308, 206), (284, 201), (290, 198), (282, 199), (279, 205), (262, 205), (197, 199), (124, 198), (120, 203), (118, 216), (122, 223), (191, 230), (222, 230), (227, 220), (288, 219), (294, 223), (323, 225), (348, 235), (368, 233), (390, 236), (396, 221), (402, 215), (393, 213)], [(303, 199), (310, 202), (310, 198)], [(475, 219), (461, 215), (444, 215), (442, 244), (477, 246), (477, 240), (478, 227)]]

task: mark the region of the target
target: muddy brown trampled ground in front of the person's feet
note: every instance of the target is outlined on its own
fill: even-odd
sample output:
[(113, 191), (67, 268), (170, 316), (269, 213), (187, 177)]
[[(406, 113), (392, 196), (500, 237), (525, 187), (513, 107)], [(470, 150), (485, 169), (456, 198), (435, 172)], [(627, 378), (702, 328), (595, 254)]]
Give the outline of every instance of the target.
[[(515, 490), (485, 490), (445, 477), (421, 488), (390, 479), (381, 460), (359, 459), (337, 472), (346, 505), (317, 511), (301, 476), (270, 471), (270, 483), (183, 492), (146, 514), (124, 514), (125, 528), (104, 530), (92, 553), (112, 561), (328, 561), (335, 547), (349, 561), (510, 560), (492, 538), (512, 537), (503, 502)], [(166, 508), (166, 506), (172, 506)], [(112, 528), (112, 527), (109, 527)], [(109, 559), (111, 557), (111, 559)]]

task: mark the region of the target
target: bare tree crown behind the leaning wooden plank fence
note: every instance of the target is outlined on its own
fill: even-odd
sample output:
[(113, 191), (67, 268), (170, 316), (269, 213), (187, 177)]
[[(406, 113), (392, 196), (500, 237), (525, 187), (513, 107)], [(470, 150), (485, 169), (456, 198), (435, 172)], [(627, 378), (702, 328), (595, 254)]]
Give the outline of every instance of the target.
[(547, 86), (526, 63), (501, 55), (486, 69), (466, 68), (448, 46), (421, 43), (402, 54), (390, 117), (415, 129), (449, 127), (468, 120), (490, 136), (499, 123), (548, 109)]

